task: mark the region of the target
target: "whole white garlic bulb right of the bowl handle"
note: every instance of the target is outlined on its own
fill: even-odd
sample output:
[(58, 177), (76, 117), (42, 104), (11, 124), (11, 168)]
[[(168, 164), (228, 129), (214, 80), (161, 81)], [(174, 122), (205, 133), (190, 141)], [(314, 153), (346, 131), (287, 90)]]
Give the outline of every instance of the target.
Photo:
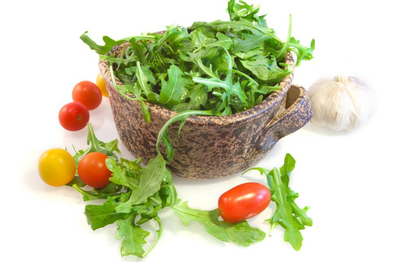
[(334, 130), (350, 130), (368, 118), (372, 95), (356, 77), (321, 78), (308, 89), (314, 115), (311, 122)]

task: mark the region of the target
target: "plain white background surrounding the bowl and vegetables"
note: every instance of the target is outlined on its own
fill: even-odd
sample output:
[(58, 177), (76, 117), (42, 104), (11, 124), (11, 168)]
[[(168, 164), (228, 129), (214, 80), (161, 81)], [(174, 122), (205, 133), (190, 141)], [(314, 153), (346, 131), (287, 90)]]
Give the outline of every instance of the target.
[[(248, 248), (223, 243), (190, 223), (186, 228), (171, 210), (162, 210), (164, 231), (145, 261), (392, 261), (392, 17), (386, 1), (261, 1), (268, 25), (285, 38), (288, 14), (293, 36), (304, 45), (316, 39), (315, 58), (303, 61), (294, 82), (308, 88), (322, 76), (360, 77), (375, 94), (375, 108), (362, 128), (333, 132), (308, 124), (283, 138), (259, 166), (283, 163), (286, 152), (297, 160), (291, 187), (298, 204), (309, 205), (313, 226), (302, 231), (301, 251), (271, 237)], [(1, 163), (3, 185), (0, 232), (2, 261), (136, 261), (120, 256), (115, 225), (92, 231), (86, 203), (69, 187), (50, 187), (37, 173), (37, 160), (53, 147), (86, 148), (86, 129), (67, 132), (58, 110), (71, 101), (81, 80), (94, 81), (97, 55), (78, 37), (95, 40), (164, 30), (177, 23), (228, 19), (227, 2), (199, 1), (12, 1), (2, 2)], [(97, 137), (117, 138), (110, 105), (104, 99), (91, 112)], [(130, 158), (121, 145), (123, 156)], [(216, 207), (220, 194), (257, 173), (209, 181), (174, 178), (179, 196), (200, 209)], [(249, 222), (268, 233), (270, 205)], [(152, 225), (154, 227), (154, 225)], [(153, 237), (153, 235), (152, 235)], [(152, 239), (152, 238), (149, 238)], [(163, 260), (164, 259), (164, 260)]]

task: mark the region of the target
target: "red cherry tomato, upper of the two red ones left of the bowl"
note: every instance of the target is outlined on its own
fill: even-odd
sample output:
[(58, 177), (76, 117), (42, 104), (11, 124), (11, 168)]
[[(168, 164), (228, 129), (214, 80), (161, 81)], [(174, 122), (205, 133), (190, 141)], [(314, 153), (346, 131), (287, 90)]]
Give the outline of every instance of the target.
[(77, 83), (72, 90), (72, 100), (83, 103), (88, 110), (93, 110), (101, 104), (103, 95), (95, 83), (82, 81)]

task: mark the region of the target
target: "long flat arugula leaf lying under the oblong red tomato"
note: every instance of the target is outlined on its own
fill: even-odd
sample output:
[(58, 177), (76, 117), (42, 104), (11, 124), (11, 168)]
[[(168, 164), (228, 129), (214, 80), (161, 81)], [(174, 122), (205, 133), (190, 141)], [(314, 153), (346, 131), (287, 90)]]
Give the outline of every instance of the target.
[(202, 224), (208, 233), (214, 237), (225, 241), (247, 247), (250, 244), (260, 242), (264, 239), (265, 233), (258, 228), (250, 227), (246, 221), (237, 224), (219, 221), (219, 211), (192, 209), (187, 206), (187, 202), (177, 204), (172, 207), (172, 211), (187, 226), (190, 221)]

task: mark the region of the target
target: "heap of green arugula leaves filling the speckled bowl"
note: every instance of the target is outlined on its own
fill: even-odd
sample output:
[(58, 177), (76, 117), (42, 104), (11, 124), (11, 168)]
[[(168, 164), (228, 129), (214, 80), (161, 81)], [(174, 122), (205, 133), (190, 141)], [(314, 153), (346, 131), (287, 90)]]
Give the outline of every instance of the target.
[[(141, 102), (146, 121), (150, 122), (150, 116), (145, 101), (177, 112), (200, 112), (194, 115), (230, 115), (280, 89), (278, 83), (292, 70), (281, 63), (285, 54), (296, 54), (296, 65), (310, 60), (314, 40), (307, 48), (291, 37), (291, 15), (283, 41), (267, 27), (265, 15), (258, 15), (259, 6), (230, 0), (227, 12), (229, 21), (198, 21), (190, 28), (172, 25), (164, 34), (120, 40), (104, 36), (103, 46), (87, 32), (81, 39), (109, 62), (116, 89)], [(129, 46), (119, 57), (108, 54), (125, 42)], [(117, 86), (114, 76), (124, 85)]]

